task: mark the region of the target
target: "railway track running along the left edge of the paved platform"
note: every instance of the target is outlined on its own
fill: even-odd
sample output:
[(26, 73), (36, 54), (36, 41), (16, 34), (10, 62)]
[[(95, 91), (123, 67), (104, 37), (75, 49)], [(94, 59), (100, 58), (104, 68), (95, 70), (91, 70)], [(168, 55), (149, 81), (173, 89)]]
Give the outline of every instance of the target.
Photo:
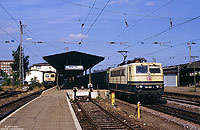
[(12, 112), (23, 106), (24, 104), (28, 103), (29, 101), (33, 100), (34, 98), (38, 97), (44, 90), (29, 94), (25, 97), (19, 98), (15, 101), (3, 104), (0, 106), (0, 120), (4, 119)]

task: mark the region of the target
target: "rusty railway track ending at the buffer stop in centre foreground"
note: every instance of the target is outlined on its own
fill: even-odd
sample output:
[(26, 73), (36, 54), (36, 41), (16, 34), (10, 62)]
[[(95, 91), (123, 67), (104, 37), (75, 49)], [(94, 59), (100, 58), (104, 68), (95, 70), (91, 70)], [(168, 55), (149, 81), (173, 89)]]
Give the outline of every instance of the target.
[[(142, 130), (132, 122), (124, 121), (119, 115), (108, 112), (92, 100), (75, 100), (79, 113), (82, 114), (80, 120), (84, 120), (83, 129), (106, 130), (106, 129), (124, 129), (124, 130)], [(86, 128), (85, 128), (86, 127)]]

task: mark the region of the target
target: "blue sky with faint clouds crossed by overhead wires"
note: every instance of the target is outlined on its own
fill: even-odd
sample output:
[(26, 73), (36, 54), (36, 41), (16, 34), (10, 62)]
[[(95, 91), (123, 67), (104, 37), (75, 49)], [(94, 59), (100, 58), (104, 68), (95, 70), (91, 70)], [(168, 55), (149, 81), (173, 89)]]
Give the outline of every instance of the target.
[(121, 63), (118, 51), (128, 51), (127, 60), (188, 63), (189, 46), (192, 56), (200, 55), (199, 5), (199, 0), (0, 0), (0, 59), (13, 59), (21, 20), (29, 65), (67, 51), (105, 57), (95, 69)]

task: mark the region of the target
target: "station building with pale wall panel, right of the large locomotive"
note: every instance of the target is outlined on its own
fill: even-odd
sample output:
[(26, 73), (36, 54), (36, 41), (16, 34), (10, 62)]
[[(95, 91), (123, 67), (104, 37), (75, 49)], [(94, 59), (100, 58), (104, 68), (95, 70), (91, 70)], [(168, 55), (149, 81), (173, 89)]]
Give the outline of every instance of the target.
[(191, 86), (200, 83), (200, 61), (163, 68), (166, 87)]

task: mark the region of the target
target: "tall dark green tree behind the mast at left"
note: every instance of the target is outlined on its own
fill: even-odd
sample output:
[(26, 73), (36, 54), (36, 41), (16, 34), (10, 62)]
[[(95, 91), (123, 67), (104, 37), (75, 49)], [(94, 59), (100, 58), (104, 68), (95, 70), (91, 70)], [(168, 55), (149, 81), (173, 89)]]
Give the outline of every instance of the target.
[[(14, 85), (18, 85), (19, 82), (19, 54), (20, 54), (20, 47), (18, 46), (16, 51), (12, 52), (14, 63), (11, 64), (12, 70), (13, 70), (13, 80)], [(24, 77), (26, 77), (26, 72), (28, 71), (28, 65), (29, 65), (29, 56), (24, 56)]]

